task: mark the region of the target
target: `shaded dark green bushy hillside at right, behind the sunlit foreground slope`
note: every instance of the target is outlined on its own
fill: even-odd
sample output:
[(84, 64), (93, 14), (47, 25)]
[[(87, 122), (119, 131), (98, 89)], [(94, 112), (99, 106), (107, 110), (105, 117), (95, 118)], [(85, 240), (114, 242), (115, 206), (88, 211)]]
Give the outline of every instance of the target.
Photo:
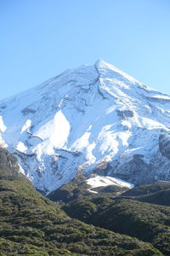
[[(170, 183), (159, 183), (139, 186), (117, 197), (91, 195), (67, 203), (64, 209), (72, 218), (150, 241), (162, 253), (170, 255), (170, 207), (166, 197), (169, 188)], [(164, 203), (157, 196), (159, 193), (166, 197)], [(142, 202), (149, 199), (150, 203)], [(158, 205), (166, 202), (167, 206)]]

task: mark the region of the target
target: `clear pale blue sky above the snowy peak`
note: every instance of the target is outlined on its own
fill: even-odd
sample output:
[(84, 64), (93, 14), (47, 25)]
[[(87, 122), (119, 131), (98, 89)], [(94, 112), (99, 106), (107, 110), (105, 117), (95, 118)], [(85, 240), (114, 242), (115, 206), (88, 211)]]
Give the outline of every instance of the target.
[(97, 59), (170, 93), (170, 1), (0, 0), (0, 99)]

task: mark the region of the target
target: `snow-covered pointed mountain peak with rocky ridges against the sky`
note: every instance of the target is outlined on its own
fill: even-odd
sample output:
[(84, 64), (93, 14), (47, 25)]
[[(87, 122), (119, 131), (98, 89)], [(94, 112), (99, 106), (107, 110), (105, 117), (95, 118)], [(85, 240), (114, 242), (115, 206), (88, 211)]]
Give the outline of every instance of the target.
[(170, 179), (170, 96), (105, 61), (0, 101), (0, 143), (48, 193), (77, 172)]

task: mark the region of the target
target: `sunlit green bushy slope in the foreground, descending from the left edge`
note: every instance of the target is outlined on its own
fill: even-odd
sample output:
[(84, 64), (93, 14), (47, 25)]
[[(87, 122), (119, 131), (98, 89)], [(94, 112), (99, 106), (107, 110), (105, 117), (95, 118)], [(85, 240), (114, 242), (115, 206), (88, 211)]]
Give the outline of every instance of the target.
[(162, 255), (150, 243), (69, 218), (18, 171), (14, 156), (0, 148), (1, 256)]

